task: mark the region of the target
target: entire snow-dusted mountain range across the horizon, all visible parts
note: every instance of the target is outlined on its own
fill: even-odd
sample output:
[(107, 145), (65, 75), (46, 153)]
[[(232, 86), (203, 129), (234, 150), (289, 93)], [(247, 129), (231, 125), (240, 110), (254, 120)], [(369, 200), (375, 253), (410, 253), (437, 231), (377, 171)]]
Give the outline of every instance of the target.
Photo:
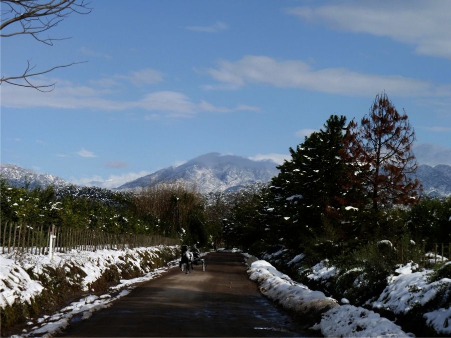
[[(179, 166), (170, 166), (142, 176), (111, 190), (134, 190), (159, 183), (183, 182), (195, 186), (201, 193), (237, 190), (256, 182), (269, 182), (279, 170), (271, 160), (254, 161), (236, 155), (208, 153)], [(37, 174), (17, 165), (1, 164), (2, 177), (13, 186), (30, 188), (49, 185), (68, 186), (72, 183), (50, 174)], [(435, 197), (451, 196), (451, 166), (421, 164), (415, 175), (423, 186), (423, 194)], [(93, 184), (95, 185), (95, 184)]]

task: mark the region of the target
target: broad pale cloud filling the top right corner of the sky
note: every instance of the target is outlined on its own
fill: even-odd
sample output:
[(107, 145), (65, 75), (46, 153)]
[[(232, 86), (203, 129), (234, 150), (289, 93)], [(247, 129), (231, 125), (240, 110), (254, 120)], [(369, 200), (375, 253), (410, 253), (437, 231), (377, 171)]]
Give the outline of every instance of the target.
[(451, 58), (451, 2), (348, 1), (287, 10), (301, 20), (326, 23), (334, 29), (389, 37), (415, 46), (415, 52)]

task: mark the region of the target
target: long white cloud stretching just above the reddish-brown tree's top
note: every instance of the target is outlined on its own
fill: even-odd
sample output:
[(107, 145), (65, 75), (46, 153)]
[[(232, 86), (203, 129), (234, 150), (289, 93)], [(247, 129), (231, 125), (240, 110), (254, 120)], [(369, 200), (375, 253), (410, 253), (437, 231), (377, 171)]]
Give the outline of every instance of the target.
[(299, 60), (278, 61), (267, 56), (248, 55), (236, 62), (219, 61), (208, 73), (219, 85), (205, 89), (237, 89), (248, 83), (301, 88), (342, 95), (371, 95), (382, 90), (404, 97), (448, 97), (450, 85), (435, 85), (402, 76), (363, 74), (346, 68), (314, 70)]

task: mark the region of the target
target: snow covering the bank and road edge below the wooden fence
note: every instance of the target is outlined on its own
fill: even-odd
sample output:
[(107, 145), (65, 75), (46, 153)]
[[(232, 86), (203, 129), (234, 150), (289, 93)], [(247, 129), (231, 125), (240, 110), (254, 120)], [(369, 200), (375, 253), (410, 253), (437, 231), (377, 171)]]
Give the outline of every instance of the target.
[[(133, 264), (142, 273), (145, 273), (146, 271), (140, 267), (144, 253), (152, 258), (158, 258), (163, 248), (166, 251), (167, 249), (173, 251), (175, 256), (177, 247), (162, 245), (126, 250), (97, 250), (95, 252), (72, 250), (68, 253), (55, 252), (53, 260), (43, 255), (22, 254), (18, 257), (17, 254), (2, 254), (0, 255), (1, 308), (4, 308), (7, 304), (13, 304), (15, 301), (30, 302), (34, 296), (38, 295), (44, 289), (39, 281), (30, 278), (29, 274), (25, 271), (26, 269), (36, 274), (41, 274), (45, 267), (55, 268), (64, 264), (68, 264), (69, 266), (76, 265), (87, 274), (82, 279), (81, 285), (85, 291), (89, 291), (89, 283), (95, 281), (102, 275), (103, 271), (112, 265), (119, 267), (127, 262), (127, 264)], [(74, 316), (78, 316), (80, 319), (87, 319), (91, 316), (92, 312), (100, 308), (108, 307), (112, 301), (128, 294), (135, 287), (135, 284), (159, 276), (161, 273), (167, 271), (169, 267), (175, 266), (177, 262), (178, 260), (173, 260), (168, 263), (168, 267), (152, 270), (142, 277), (121, 280), (120, 284), (110, 288), (111, 291), (108, 294), (101, 295), (100, 297), (88, 295), (77, 302), (71, 303), (52, 316), (45, 315), (42, 318), (31, 319), (27, 323), (27, 325), (32, 326), (31, 330), (24, 332), (21, 336), (48, 336), (66, 327)]]

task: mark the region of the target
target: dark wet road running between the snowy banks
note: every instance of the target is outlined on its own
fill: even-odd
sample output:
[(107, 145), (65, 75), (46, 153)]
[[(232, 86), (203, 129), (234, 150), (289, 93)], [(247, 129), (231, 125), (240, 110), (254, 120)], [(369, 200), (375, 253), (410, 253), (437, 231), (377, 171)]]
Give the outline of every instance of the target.
[(243, 256), (209, 253), (206, 270), (174, 268), (137, 286), (65, 336), (306, 336), (296, 320), (262, 296), (249, 280)]

